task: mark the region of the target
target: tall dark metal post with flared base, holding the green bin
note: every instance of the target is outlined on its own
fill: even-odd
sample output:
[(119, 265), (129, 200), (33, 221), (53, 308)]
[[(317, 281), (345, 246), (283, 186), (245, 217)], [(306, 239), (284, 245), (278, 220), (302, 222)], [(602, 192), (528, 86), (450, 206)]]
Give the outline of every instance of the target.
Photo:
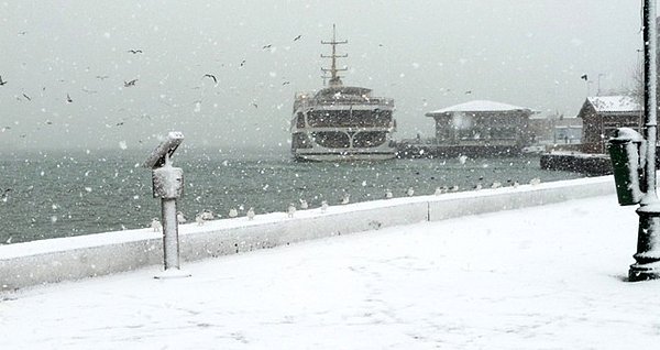
[(644, 101), (645, 101), (645, 138), (646, 164), (644, 182), (641, 183), (644, 196), (639, 215), (639, 229), (637, 233), (637, 261), (630, 265), (628, 277), (630, 281), (660, 278), (660, 201), (656, 192), (656, 140), (657, 140), (657, 46), (658, 29), (656, 24), (656, 0), (644, 0)]

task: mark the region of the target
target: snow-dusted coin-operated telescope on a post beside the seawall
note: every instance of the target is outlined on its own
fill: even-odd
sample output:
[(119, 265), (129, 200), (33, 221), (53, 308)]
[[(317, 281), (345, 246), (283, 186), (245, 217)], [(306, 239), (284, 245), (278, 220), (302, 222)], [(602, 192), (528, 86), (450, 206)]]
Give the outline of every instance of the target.
[(184, 134), (172, 131), (144, 162), (152, 169), (154, 198), (161, 198), (161, 219), (163, 222), (163, 260), (165, 273), (162, 276), (187, 276), (180, 274), (178, 222), (176, 199), (184, 192), (184, 171), (172, 166), (172, 155), (184, 142)]

